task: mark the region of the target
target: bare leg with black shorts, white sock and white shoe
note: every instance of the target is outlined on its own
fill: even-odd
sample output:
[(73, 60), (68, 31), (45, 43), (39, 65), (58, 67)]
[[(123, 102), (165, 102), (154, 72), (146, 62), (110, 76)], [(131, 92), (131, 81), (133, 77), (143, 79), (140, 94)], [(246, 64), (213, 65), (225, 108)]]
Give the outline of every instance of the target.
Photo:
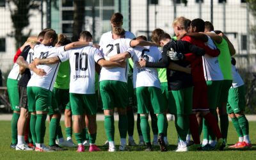
[(19, 95), (20, 95), (20, 105), (19, 105), (20, 117), (17, 125), (18, 126), (18, 143), (16, 146), (16, 150), (33, 150), (33, 148), (28, 147), (24, 138), (27, 121), (29, 117), (27, 88), (19, 86)]

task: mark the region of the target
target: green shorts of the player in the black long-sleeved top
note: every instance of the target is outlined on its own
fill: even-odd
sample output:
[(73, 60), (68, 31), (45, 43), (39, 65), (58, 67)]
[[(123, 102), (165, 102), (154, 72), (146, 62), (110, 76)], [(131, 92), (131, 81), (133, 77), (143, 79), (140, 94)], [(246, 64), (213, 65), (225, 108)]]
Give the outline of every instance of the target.
[(169, 92), (169, 113), (173, 115), (190, 115), (193, 102), (193, 87)]

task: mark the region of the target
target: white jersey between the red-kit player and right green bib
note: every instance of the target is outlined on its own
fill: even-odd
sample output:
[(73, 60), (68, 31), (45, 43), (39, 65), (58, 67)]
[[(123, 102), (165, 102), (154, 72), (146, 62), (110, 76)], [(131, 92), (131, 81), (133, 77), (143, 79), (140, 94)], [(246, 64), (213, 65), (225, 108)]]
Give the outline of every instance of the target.
[[(208, 42), (205, 43), (211, 49), (216, 49), (216, 46), (212, 39), (208, 36)], [(220, 69), (220, 63), (218, 56), (212, 57), (209, 54), (204, 54), (203, 66), (204, 66), (204, 77), (206, 81), (221, 81), (223, 80), (223, 74)]]

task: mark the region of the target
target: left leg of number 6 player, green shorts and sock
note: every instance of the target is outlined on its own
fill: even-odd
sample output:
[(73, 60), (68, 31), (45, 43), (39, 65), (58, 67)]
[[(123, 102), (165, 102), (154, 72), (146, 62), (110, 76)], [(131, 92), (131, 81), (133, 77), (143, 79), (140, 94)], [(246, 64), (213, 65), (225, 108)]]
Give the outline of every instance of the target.
[(147, 151), (152, 151), (152, 144), (150, 142), (150, 127), (148, 124), (148, 107), (150, 104), (150, 97), (147, 87), (136, 88), (136, 97), (138, 102), (138, 114), (140, 114), (140, 127), (143, 139), (147, 145)]

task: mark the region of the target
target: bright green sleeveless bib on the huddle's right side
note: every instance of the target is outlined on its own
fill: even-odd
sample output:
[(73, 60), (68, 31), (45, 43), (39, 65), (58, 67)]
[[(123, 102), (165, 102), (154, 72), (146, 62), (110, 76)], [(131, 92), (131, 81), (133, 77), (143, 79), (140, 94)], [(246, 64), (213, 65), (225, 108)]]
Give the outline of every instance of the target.
[(221, 72), (223, 74), (223, 77), (225, 80), (232, 80), (232, 72), (231, 72), (231, 56), (230, 51), (228, 49), (228, 43), (227, 41), (222, 38), (222, 41), (220, 44), (216, 43), (216, 46), (218, 49), (220, 49), (220, 56), (218, 57), (218, 60), (220, 62), (220, 68)]

